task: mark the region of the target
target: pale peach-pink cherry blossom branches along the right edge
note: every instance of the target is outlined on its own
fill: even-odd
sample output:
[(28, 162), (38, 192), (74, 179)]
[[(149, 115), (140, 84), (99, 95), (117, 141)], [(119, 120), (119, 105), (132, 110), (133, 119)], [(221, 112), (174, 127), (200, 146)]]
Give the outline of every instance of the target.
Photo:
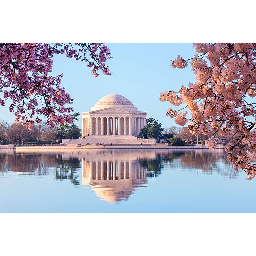
[[(256, 156), (256, 103), (252, 99), (256, 96), (256, 43), (195, 43), (194, 47), (190, 64), (196, 82), (182, 85), (177, 92), (161, 92), (159, 100), (174, 106), (186, 104), (191, 118), (172, 108), (166, 115), (180, 125), (190, 120), (188, 130), (194, 135), (214, 132), (205, 145), (214, 149), (218, 143), (225, 144), (228, 161), (252, 179), (256, 173), (252, 162)], [(182, 69), (187, 61), (179, 55), (171, 66)]]

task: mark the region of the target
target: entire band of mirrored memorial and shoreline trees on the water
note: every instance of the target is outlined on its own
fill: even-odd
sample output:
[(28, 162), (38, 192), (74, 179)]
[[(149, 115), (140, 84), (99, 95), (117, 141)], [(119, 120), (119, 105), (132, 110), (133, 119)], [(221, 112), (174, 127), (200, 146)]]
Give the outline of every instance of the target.
[(60, 182), (88, 185), (108, 202), (127, 200), (138, 187), (146, 186), (147, 179), (155, 180), (163, 170), (238, 176), (223, 150), (0, 152), (0, 178), (9, 174), (53, 175)]

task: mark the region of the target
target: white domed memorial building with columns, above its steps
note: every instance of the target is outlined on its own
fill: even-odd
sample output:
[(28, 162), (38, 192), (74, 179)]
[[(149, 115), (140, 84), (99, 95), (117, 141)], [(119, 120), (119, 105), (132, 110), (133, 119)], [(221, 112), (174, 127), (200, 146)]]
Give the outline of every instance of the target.
[(146, 126), (146, 116), (124, 96), (110, 94), (101, 98), (91, 111), (82, 112), (82, 136), (138, 136)]

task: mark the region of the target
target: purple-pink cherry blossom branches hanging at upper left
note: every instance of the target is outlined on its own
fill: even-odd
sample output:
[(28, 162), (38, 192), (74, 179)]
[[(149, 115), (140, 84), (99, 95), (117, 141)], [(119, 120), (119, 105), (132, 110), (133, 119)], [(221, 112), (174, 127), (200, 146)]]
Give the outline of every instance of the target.
[(23, 121), (28, 129), (41, 117), (52, 127), (73, 122), (73, 108), (67, 106), (73, 99), (60, 87), (63, 74), (50, 74), (54, 54), (88, 62), (95, 77), (100, 70), (111, 75), (105, 62), (112, 57), (103, 43), (0, 43), (0, 104), (11, 100), (9, 110), (15, 122)]

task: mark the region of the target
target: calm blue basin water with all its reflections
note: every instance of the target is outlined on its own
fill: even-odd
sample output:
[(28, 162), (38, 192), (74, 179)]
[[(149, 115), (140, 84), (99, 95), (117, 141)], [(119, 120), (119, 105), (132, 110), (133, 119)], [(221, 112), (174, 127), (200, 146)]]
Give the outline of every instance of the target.
[(256, 212), (223, 150), (0, 151), (0, 212)]

